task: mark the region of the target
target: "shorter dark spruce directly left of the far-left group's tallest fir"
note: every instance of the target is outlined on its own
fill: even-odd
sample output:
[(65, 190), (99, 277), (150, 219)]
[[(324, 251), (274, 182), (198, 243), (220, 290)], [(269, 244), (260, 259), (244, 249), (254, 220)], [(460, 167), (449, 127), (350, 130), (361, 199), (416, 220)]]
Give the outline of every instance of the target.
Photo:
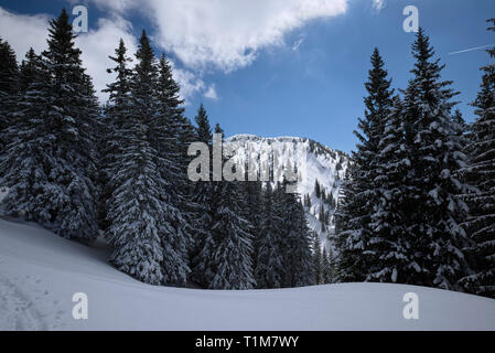
[(31, 49), (22, 65), (23, 93), (15, 105), (15, 115), (4, 131), (9, 143), (0, 157), (4, 185), (10, 188), (2, 201), (8, 215), (22, 215), (26, 221), (39, 221), (39, 195), (49, 183), (44, 168), (51, 160), (46, 150), (52, 142), (46, 127), (50, 73), (46, 63)]

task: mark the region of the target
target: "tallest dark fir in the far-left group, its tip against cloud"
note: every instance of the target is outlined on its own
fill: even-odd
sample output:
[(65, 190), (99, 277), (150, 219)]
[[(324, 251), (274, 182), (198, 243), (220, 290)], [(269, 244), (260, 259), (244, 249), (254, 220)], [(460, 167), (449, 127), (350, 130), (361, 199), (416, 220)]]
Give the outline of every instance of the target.
[(46, 124), (52, 129), (53, 162), (49, 183), (40, 202), (44, 210), (41, 223), (56, 233), (80, 240), (97, 235), (95, 97), (90, 78), (75, 47), (67, 12), (50, 22), (49, 49), (43, 60), (50, 69), (50, 111)]

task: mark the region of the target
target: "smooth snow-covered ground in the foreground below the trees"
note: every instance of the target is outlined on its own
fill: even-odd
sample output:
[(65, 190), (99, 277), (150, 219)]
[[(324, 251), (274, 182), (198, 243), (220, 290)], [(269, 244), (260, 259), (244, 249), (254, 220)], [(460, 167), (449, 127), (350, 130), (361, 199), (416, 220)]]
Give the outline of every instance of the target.
[[(86, 247), (33, 224), (0, 220), (1, 330), (495, 330), (495, 300), (378, 284), (208, 291), (152, 287)], [(88, 297), (75, 320), (73, 295)], [(419, 319), (402, 297), (419, 297)]]

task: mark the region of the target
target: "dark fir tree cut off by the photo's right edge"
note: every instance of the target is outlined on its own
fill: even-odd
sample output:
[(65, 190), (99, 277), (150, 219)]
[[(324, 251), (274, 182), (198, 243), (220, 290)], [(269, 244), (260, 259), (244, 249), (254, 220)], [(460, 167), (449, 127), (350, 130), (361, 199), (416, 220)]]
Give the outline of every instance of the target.
[[(495, 19), (488, 20), (495, 31)], [(488, 55), (495, 57), (495, 49)], [(470, 126), (465, 179), (476, 190), (466, 196), (465, 222), (472, 244), (466, 247), (473, 274), (461, 279), (470, 292), (495, 298), (495, 64), (482, 67), (481, 90), (473, 106), (477, 119)]]

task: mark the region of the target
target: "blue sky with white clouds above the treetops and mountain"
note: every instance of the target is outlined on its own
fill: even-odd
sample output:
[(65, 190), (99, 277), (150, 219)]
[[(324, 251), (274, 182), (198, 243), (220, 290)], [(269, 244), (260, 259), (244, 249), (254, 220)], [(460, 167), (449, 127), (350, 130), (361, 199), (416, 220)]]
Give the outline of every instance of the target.
[[(168, 1), (151, 4), (150, 0), (148, 11), (130, 6), (128, 0), (106, 4), (83, 1), (88, 6), (93, 35), (82, 38), (83, 50), (88, 47), (88, 66), (101, 72), (95, 66), (104, 65), (105, 50), (106, 55), (111, 54), (115, 38), (121, 33), (138, 35), (144, 28), (157, 52), (165, 51), (173, 61), (190, 118), (204, 103), (212, 121), (219, 122), (227, 135), (301, 136), (344, 151), (356, 143), (353, 130), (357, 117), (363, 116), (364, 82), (373, 49), (380, 50), (396, 88), (405, 87), (410, 78), (415, 34), (402, 30), (406, 6), (419, 9), (420, 25), (446, 64), (443, 78), (452, 79), (453, 87), (462, 93), (459, 108), (469, 121), (473, 119), (469, 103), (480, 85), (478, 68), (489, 62), (488, 55), (484, 50), (449, 53), (495, 44), (495, 34), (485, 30), (485, 20), (495, 17), (493, 0), (388, 0), (380, 10), (372, 0), (318, 0), (321, 6), (308, 11), (304, 4), (297, 8), (298, 1), (305, 0), (291, 0), (299, 10), (288, 10), (278, 18), (281, 3), (289, 2), (266, 0), (252, 11), (240, 4), (205, 11), (189, 1), (191, 13), (184, 13), (184, 8)], [(32, 28), (36, 33), (35, 29), (58, 14), (62, 7), (72, 9), (76, 3), (1, 0), (0, 21), (4, 25), (0, 22), (0, 36), (13, 41), (19, 51), (30, 39), (42, 47), (44, 34), (30, 36), (22, 31)], [(181, 11), (174, 13), (177, 9)], [(10, 22), (3, 21), (6, 15)], [(165, 26), (164, 22), (172, 24)], [(14, 25), (19, 29), (12, 29)], [(95, 76), (100, 85), (108, 79)]]

